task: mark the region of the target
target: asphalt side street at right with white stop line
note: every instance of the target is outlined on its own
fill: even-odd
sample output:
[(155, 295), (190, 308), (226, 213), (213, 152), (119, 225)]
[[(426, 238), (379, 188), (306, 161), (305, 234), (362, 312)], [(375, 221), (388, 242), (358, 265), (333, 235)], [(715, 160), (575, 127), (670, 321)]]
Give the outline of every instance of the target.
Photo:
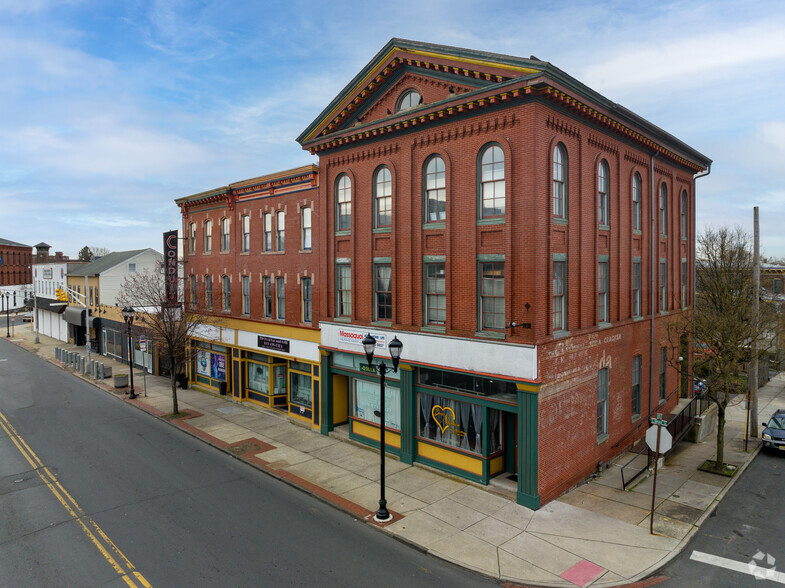
[(785, 584), (784, 474), (785, 455), (758, 454), (686, 549), (657, 574), (669, 578), (661, 585)]

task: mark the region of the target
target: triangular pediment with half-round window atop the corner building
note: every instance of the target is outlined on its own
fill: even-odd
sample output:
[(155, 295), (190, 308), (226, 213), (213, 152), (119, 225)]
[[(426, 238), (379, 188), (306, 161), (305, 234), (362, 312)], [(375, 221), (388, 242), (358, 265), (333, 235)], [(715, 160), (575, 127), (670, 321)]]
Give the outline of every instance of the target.
[[(547, 66), (536, 58), (392, 39), (297, 140), (307, 147), (350, 130), (395, 124)], [(407, 92), (416, 99), (407, 96), (402, 105)]]

